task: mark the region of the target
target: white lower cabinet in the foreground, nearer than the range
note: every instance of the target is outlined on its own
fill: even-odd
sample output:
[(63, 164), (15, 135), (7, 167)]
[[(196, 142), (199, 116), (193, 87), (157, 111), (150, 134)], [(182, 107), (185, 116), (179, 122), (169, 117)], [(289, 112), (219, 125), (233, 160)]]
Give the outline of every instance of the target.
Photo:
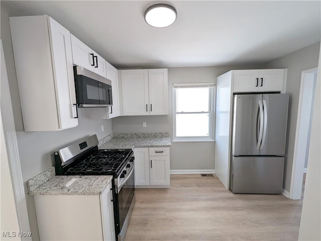
[(111, 183), (100, 195), (35, 195), (40, 240), (115, 240)]

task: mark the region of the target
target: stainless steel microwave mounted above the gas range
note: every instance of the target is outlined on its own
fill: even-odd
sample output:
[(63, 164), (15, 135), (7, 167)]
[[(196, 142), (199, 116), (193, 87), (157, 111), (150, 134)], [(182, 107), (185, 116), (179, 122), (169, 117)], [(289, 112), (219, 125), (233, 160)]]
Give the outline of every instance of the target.
[(74, 66), (78, 107), (112, 106), (111, 81), (80, 66)]

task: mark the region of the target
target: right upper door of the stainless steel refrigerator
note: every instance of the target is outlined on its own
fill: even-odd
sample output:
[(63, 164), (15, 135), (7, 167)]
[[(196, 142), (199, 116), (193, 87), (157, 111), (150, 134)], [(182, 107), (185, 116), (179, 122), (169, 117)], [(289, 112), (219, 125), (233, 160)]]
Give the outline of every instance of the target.
[(264, 128), (260, 155), (285, 154), (288, 94), (263, 94)]

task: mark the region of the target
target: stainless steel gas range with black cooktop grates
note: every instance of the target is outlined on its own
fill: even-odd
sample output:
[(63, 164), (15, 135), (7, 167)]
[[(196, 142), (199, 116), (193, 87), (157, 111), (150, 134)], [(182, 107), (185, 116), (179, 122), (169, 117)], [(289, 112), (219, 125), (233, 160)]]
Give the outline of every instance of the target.
[(55, 151), (56, 175), (112, 175), (116, 240), (124, 240), (135, 203), (131, 149), (99, 149), (96, 135)]

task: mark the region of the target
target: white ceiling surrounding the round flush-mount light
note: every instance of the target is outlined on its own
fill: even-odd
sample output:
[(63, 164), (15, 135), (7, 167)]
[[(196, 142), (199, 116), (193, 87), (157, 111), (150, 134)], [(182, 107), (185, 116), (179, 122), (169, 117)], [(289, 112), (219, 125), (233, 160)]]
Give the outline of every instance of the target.
[(156, 29), (160, 1), (8, 1), (49, 15), (116, 68), (259, 64), (320, 41), (321, 1), (164, 1), (177, 21)]

